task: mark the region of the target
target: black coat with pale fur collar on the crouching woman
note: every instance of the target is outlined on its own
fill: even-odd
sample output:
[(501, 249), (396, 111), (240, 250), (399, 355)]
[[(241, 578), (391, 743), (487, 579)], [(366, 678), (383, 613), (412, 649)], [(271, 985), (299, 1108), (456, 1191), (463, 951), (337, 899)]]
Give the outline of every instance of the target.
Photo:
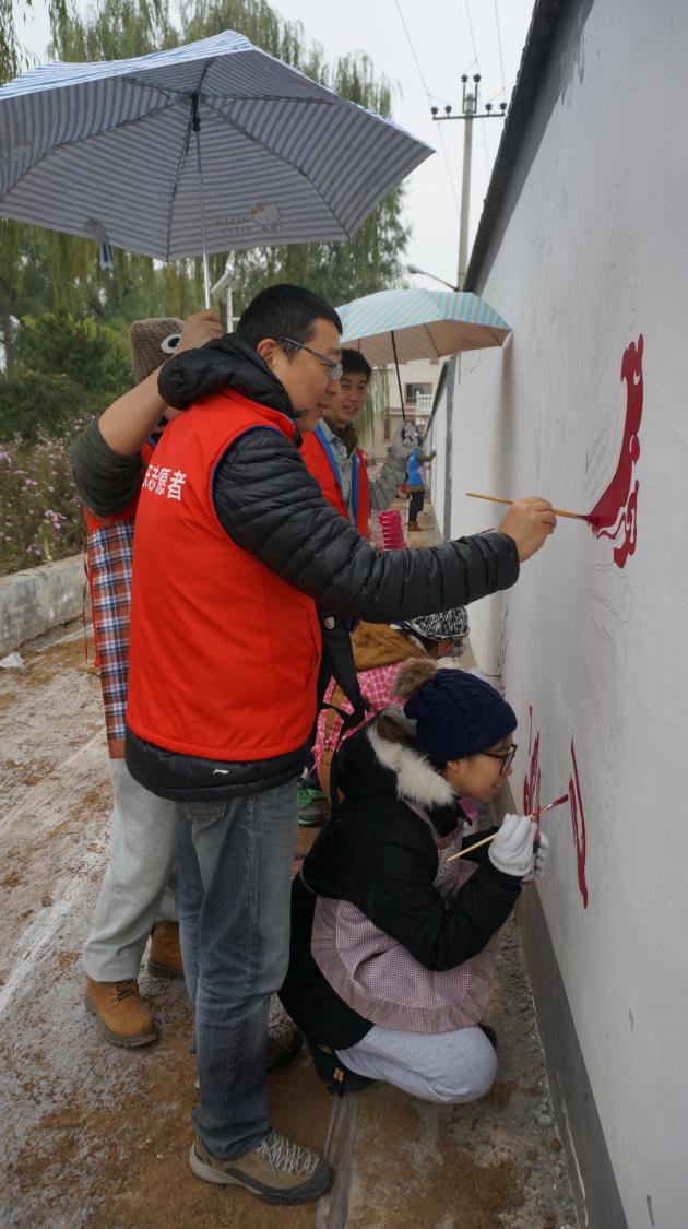
[[(469, 855), (478, 870), (456, 893), (442, 898), (435, 889), (435, 841), (413, 804), (423, 806), (440, 836), (459, 827), (466, 816), (429, 762), (414, 748), (385, 744), (376, 737), (376, 725), (377, 719), (338, 752), (338, 784), (345, 801), (319, 833), (291, 891), (290, 962), (280, 998), (300, 1029), (335, 1050), (355, 1045), (372, 1023), (339, 997), (313, 959), (318, 896), (350, 901), (419, 964), (444, 972), (483, 950), (521, 892), (520, 880), (493, 866), (483, 846)], [(389, 756), (386, 763), (385, 752), (391, 748), (393, 761)], [(451, 801), (437, 800), (437, 783)], [(484, 834), (469, 836), (464, 848)]]

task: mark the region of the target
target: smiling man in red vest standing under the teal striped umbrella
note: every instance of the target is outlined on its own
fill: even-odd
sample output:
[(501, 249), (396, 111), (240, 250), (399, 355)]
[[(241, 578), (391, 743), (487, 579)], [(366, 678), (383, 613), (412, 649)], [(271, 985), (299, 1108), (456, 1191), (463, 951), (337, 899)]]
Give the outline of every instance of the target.
[(356, 418), (367, 401), (372, 369), (358, 350), (342, 350), (342, 380), (324, 417), (303, 436), (301, 455), (329, 504), (370, 535), (370, 512), (383, 512), (394, 499), (418, 440), (405, 423), (394, 431), (382, 471), (369, 482), (367, 458), (356, 436)]

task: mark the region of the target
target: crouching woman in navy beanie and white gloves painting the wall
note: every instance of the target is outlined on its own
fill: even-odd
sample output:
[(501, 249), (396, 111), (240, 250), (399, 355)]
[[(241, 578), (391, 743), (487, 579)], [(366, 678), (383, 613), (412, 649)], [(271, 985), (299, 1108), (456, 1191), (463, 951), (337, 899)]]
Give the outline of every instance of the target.
[(471, 1101), (496, 1072), (480, 1027), (496, 933), (521, 881), (542, 873), (547, 839), (534, 853), (536, 825), (507, 815), (490, 844), (450, 860), (462, 848), (458, 799), (491, 801), (511, 772), (516, 717), (450, 660), (405, 662), (394, 691), (403, 709), (338, 753), (345, 800), (294, 882), (280, 997), (330, 1088), (380, 1079)]

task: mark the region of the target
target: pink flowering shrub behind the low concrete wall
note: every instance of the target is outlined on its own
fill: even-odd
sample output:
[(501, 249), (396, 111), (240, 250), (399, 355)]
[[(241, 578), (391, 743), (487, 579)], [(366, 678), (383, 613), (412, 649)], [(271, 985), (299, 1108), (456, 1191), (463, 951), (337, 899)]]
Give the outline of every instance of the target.
[(72, 420), (59, 439), (0, 442), (0, 575), (77, 554), (85, 543), (71, 447), (84, 429)]

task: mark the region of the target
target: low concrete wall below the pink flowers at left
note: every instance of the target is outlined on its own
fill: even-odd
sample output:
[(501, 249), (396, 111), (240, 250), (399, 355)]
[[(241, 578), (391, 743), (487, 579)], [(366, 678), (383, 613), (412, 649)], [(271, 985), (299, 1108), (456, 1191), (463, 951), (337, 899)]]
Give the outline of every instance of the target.
[(80, 554), (0, 576), (0, 658), (81, 614), (85, 581)]

